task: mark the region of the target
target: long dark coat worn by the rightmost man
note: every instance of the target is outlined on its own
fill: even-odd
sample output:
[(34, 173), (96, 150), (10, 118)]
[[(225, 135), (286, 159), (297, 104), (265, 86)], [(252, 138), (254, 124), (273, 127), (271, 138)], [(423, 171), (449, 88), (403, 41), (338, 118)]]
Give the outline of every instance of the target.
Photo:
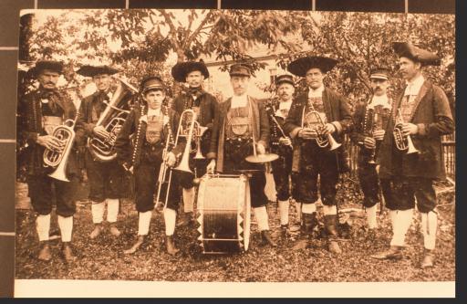
[(400, 152), (394, 144), (394, 122), (403, 98), (404, 89), (393, 102), (391, 119), (379, 149), (379, 176), (418, 176), (445, 178), (441, 150), (441, 135), (454, 131), (449, 101), (444, 91), (425, 80), (416, 99), (414, 113), (410, 121), (417, 124), (419, 133), (410, 135), (413, 145), (420, 153)]

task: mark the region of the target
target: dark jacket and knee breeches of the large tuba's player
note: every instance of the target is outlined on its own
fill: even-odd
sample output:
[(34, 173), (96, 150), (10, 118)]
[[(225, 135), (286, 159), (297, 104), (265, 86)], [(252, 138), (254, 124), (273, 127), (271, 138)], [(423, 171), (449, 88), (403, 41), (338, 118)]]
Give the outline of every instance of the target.
[[(103, 100), (109, 100), (109, 97), (107, 94), (99, 94), (99, 92), (83, 100), (80, 112), (83, 119), (83, 129), (87, 137), (97, 136), (93, 133), (92, 129), (94, 129), (100, 115), (106, 109), (106, 104)], [(88, 173), (89, 199), (100, 203), (106, 198), (116, 199), (124, 197), (127, 194), (127, 189), (124, 183), (125, 173), (123, 168), (117, 160), (109, 162), (99, 161), (99, 159), (94, 158), (88, 149), (85, 152), (85, 164)]]

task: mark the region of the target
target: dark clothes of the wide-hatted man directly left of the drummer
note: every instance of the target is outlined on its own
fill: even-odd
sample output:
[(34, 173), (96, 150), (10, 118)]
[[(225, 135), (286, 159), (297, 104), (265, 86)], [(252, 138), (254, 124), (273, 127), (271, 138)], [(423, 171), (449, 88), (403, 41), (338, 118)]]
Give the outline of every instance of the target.
[[(211, 131), (213, 128), (213, 118), (214, 110), (217, 105), (215, 98), (203, 91), (202, 89), (196, 90), (194, 95), (189, 92), (182, 94), (172, 103), (172, 109), (176, 110), (179, 115), (182, 115), (183, 110), (191, 109), (196, 113), (196, 121), (200, 123), (202, 127), (207, 127), (208, 129), (204, 132), (201, 139), (201, 152), (202, 156), (206, 156), (209, 150), (209, 144), (211, 142)], [(185, 125), (185, 127), (187, 127)], [(184, 139), (183, 139), (184, 140)], [(176, 179), (179, 181), (180, 185), (185, 189), (190, 189), (193, 187), (193, 179), (195, 177), (202, 177), (206, 173), (206, 167), (209, 160), (205, 159), (194, 159), (196, 154), (197, 146), (193, 136), (192, 149), (190, 150), (190, 159), (189, 166), (192, 170), (192, 173), (177, 171)]]

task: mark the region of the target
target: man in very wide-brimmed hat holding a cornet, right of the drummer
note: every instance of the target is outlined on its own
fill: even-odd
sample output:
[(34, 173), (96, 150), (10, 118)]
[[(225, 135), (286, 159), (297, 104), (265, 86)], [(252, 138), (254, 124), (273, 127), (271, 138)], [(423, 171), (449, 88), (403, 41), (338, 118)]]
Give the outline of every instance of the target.
[[(324, 204), (325, 228), (328, 249), (340, 254), (337, 243), (336, 184), (339, 171), (345, 169), (342, 142), (343, 134), (352, 125), (348, 102), (341, 95), (327, 89), (323, 79), (337, 60), (324, 57), (298, 58), (288, 70), (305, 77), (307, 91), (292, 103), (284, 129), (294, 143), (294, 170), (300, 174), (297, 183), (298, 200), (302, 203), (302, 234), (310, 236), (317, 225), (317, 177), (320, 178), (321, 201)], [(335, 152), (336, 150), (337, 152)], [(306, 237), (296, 248), (306, 245)]]

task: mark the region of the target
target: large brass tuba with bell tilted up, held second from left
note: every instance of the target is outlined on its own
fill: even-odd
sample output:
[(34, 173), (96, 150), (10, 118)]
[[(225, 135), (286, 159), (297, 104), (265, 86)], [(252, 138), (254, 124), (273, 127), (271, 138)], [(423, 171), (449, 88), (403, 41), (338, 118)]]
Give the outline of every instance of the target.
[(117, 140), (118, 130), (130, 113), (130, 110), (121, 109), (128, 103), (132, 94), (137, 93), (135, 89), (127, 81), (119, 79), (119, 86), (109, 102), (106, 102), (107, 107), (99, 117), (96, 126), (104, 126), (108, 131), (107, 138), (101, 138), (93, 135), (88, 138), (88, 149), (91, 155), (100, 162), (109, 162), (117, 157), (117, 152), (114, 150), (115, 141)]

